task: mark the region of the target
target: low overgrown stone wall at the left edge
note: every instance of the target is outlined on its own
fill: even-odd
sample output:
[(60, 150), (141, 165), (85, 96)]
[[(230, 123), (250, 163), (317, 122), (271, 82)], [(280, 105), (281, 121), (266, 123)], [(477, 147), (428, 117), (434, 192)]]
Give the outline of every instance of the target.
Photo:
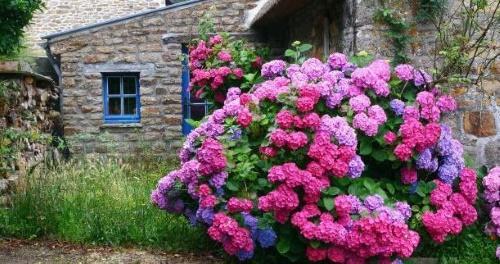
[(58, 90), (29, 63), (0, 62), (0, 206), (26, 173), (58, 155), (53, 136), (61, 131)]

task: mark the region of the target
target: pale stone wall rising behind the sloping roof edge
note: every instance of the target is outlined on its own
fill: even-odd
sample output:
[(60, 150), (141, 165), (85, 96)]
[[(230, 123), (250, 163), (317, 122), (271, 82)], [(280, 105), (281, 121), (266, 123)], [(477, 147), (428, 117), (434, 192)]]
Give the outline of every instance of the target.
[(165, 0), (45, 0), (46, 8), (28, 27), (27, 45), (42, 52), (41, 37), (165, 5)]

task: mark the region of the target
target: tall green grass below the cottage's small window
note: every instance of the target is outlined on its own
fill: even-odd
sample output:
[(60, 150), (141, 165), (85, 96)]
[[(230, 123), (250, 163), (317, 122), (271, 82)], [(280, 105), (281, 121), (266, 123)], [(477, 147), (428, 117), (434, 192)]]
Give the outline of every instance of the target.
[(150, 204), (157, 180), (174, 166), (101, 158), (41, 167), (23, 182), (13, 206), (0, 209), (0, 236), (206, 251), (204, 232)]

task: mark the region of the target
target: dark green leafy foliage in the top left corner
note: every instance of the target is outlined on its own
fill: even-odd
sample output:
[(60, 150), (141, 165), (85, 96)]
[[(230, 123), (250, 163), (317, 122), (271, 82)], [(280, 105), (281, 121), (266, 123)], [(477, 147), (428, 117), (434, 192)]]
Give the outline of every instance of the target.
[(19, 51), (24, 27), (43, 8), (43, 0), (0, 0), (0, 55)]

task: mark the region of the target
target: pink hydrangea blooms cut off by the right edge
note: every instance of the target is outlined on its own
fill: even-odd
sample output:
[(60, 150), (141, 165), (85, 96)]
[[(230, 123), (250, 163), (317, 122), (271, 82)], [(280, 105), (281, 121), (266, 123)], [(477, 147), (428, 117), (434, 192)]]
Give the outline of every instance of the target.
[[(492, 238), (500, 237), (500, 167), (490, 170), (483, 178), (484, 200), (489, 211), (490, 222), (486, 225), (485, 232)], [(500, 259), (500, 246), (497, 247), (496, 256)]]

